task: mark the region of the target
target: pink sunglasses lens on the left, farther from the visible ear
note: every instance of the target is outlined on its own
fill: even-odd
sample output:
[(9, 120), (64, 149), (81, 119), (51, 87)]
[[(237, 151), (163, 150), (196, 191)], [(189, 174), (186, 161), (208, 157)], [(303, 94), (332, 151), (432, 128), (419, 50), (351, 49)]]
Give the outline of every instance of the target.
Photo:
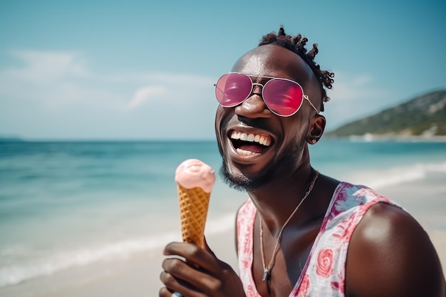
[(223, 75), (215, 86), (215, 96), (225, 108), (239, 105), (251, 94), (251, 78), (240, 73), (227, 73)]

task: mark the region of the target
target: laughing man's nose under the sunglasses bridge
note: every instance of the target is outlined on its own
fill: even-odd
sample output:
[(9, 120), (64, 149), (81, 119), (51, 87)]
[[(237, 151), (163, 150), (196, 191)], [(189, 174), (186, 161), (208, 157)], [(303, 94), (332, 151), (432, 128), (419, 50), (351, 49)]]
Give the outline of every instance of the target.
[(263, 85), (254, 83), (254, 89), (247, 100), (235, 108), (235, 113), (246, 118), (269, 118), (273, 115), (261, 98)]

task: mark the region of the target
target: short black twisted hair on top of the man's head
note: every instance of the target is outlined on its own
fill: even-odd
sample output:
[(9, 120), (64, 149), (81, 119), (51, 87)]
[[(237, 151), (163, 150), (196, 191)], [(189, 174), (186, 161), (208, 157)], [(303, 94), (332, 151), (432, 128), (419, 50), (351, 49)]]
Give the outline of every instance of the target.
[(321, 67), (316, 62), (314, 62), (314, 57), (318, 53), (318, 45), (317, 43), (314, 43), (311, 51), (308, 51), (307, 53), (307, 50), (305, 48), (307, 41), (308, 38), (302, 38), (301, 34), (298, 34), (297, 36), (287, 35), (285, 33), (284, 26), (281, 26), (279, 28), (279, 33), (276, 34), (274, 32), (271, 32), (264, 35), (261, 38), (259, 46), (263, 46), (265, 44), (275, 44), (277, 46), (287, 48), (290, 51), (296, 53), (299, 57), (302, 58), (302, 60), (305, 61), (305, 63), (308, 64), (308, 66), (310, 66), (311, 70), (316, 75), (316, 78), (318, 78), (318, 81), (321, 84), (321, 92), (323, 98), (321, 111), (323, 111), (323, 103), (330, 100), (330, 98), (327, 96), (326, 90), (323, 87), (325, 86), (328, 89), (333, 88), (332, 84), (334, 82), (334, 73), (321, 70)]

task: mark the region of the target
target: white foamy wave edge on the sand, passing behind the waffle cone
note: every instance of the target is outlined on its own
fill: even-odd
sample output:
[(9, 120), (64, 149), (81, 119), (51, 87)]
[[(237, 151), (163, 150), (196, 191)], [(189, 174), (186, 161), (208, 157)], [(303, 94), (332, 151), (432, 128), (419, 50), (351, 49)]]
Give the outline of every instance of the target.
[[(227, 214), (210, 220), (206, 225), (206, 235), (219, 234), (234, 227), (234, 214)], [(162, 249), (168, 242), (181, 239), (180, 231), (168, 231), (144, 239), (131, 239), (91, 249), (81, 249), (59, 253), (33, 264), (13, 265), (0, 268), (0, 287), (11, 286), (23, 281), (48, 276), (76, 266), (86, 266), (98, 261), (124, 259), (133, 254)]]

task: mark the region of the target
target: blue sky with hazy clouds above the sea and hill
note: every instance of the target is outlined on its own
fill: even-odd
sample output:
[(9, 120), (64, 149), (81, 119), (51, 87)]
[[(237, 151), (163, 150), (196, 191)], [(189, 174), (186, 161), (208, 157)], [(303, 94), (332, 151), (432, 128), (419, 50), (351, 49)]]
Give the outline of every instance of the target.
[(446, 88), (445, 15), (431, 0), (0, 1), (0, 135), (213, 139), (213, 83), (281, 25), (336, 73), (331, 130)]

